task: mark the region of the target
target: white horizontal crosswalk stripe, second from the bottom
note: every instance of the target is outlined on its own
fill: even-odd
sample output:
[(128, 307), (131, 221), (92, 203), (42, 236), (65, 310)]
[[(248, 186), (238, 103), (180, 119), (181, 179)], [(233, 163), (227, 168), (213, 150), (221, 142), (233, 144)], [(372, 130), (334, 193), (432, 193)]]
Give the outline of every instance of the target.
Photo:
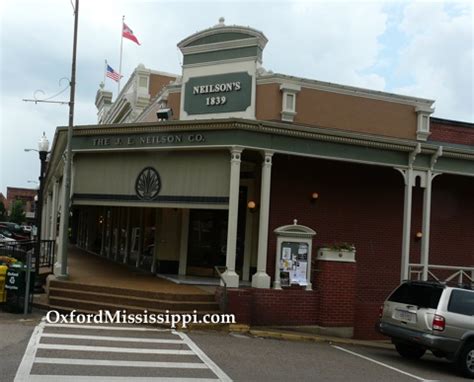
[(60, 365), (84, 366), (125, 366), (125, 367), (156, 367), (156, 368), (182, 368), (182, 369), (207, 369), (205, 363), (200, 362), (153, 362), (153, 361), (115, 361), (102, 359), (77, 359), (77, 358), (35, 358), (35, 363), (49, 363)]

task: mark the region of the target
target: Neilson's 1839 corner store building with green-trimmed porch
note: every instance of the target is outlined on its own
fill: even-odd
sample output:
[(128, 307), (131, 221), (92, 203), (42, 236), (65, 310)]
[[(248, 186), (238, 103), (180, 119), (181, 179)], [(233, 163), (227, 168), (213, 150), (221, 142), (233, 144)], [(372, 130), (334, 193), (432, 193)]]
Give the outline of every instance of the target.
[[(401, 279), (474, 266), (474, 126), (431, 118), (433, 100), (267, 71), (266, 43), (220, 22), (178, 44), (180, 75), (140, 65), (114, 102), (101, 86), (99, 123), (74, 128), (73, 241), (169, 278), (225, 266), (240, 322), (373, 337)], [(45, 237), (57, 236), (65, 136)], [(282, 227), (315, 231), (312, 250), (277, 247)]]

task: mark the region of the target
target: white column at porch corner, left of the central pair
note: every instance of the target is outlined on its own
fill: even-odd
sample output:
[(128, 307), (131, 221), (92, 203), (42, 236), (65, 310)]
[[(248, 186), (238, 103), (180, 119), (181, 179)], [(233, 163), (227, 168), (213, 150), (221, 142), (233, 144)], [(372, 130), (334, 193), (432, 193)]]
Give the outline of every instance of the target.
[(242, 149), (233, 147), (230, 154), (229, 218), (227, 224), (227, 270), (222, 277), (230, 288), (239, 287), (239, 275), (235, 272), (237, 252), (237, 222), (239, 213), (240, 162)]

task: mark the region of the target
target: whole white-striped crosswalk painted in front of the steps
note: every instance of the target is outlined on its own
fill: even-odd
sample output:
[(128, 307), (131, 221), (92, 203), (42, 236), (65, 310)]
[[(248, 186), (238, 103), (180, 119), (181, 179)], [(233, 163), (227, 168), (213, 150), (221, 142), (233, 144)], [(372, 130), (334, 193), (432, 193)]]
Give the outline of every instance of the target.
[[(63, 328), (73, 328), (73, 329), (91, 329), (87, 334), (68, 334), (68, 333), (48, 333), (44, 332), (45, 328), (48, 327), (63, 327)], [(114, 330), (118, 336), (107, 336), (107, 335), (93, 335), (93, 330)], [(123, 337), (118, 331), (129, 331), (133, 330), (136, 332), (160, 332), (166, 334), (172, 334), (175, 339), (167, 338), (137, 338), (137, 337)], [(110, 334), (115, 334), (110, 333)], [(130, 333), (131, 334), (131, 333)], [(151, 333), (150, 333), (151, 334)], [(126, 345), (133, 346), (132, 344), (139, 343), (148, 343), (149, 348), (134, 348), (134, 347), (120, 347), (120, 346), (92, 346), (92, 345), (71, 345), (71, 344), (51, 344), (51, 343), (41, 343), (41, 338), (50, 338), (50, 339), (63, 339), (62, 342), (67, 342), (64, 340), (98, 340), (98, 341), (116, 341), (117, 345), (119, 341), (126, 342)], [(159, 336), (158, 336), (159, 337)], [(71, 342), (72, 342), (71, 341)], [(153, 345), (155, 344), (155, 345)], [(187, 350), (182, 349), (162, 349), (160, 344), (175, 344), (181, 348), (187, 348)], [(153, 348), (151, 348), (153, 347)], [(54, 351), (59, 351), (58, 356), (38, 356), (37, 351), (39, 349), (49, 349)], [(119, 360), (113, 359), (103, 359), (103, 355), (100, 353), (95, 356), (90, 356), (91, 358), (64, 358), (65, 355), (61, 353), (63, 350), (72, 350), (72, 351), (86, 351), (86, 352), (106, 352), (106, 353), (120, 353), (121, 356)], [(125, 354), (142, 354), (142, 355), (155, 355), (160, 354), (164, 355), (165, 358), (158, 357), (158, 359), (150, 361), (142, 360), (127, 360)], [(44, 354), (44, 353), (43, 353)], [(94, 353), (92, 353), (94, 354)], [(168, 359), (170, 361), (176, 361), (177, 359), (183, 359), (183, 362), (168, 362), (166, 356), (168, 355), (183, 355), (183, 356), (194, 356), (194, 360), (197, 362), (189, 362), (189, 359), (185, 357), (177, 357), (175, 359)], [(84, 357), (84, 356), (83, 356)], [(131, 357), (131, 356), (130, 356)], [(137, 356), (135, 356), (136, 358)], [(113, 357), (112, 357), (113, 358)], [(160, 359), (161, 358), (161, 359)], [(201, 361), (199, 362), (198, 359)], [(51, 365), (51, 366), (49, 366)], [(155, 368), (158, 374), (169, 375), (168, 377), (145, 377), (145, 376), (99, 376), (99, 375), (73, 375), (67, 372), (67, 368), (71, 367), (74, 370), (74, 366), (90, 366), (89, 369), (94, 370), (94, 366), (105, 368), (115, 368), (115, 367), (124, 367), (124, 368), (133, 368), (137, 374), (140, 374), (140, 368), (146, 368), (147, 370), (152, 370)], [(61, 375), (58, 374), (48, 374), (54, 373), (58, 368), (63, 368), (66, 370), (66, 373)], [(38, 369), (39, 368), (39, 369)], [(160, 372), (159, 370), (162, 369)], [(165, 369), (168, 369), (166, 372)], [(193, 369), (195, 371), (193, 371)], [(41, 370), (41, 371), (40, 371)], [(49, 371), (51, 370), (51, 371)], [(61, 369), (59, 369), (61, 370)], [(82, 370), (82, 368), (80, 368)], [(88, 370), (84, 368), (84, 370)], [(111, 369), (112, 370), (112, 369)], [(180, 373), (180, 370), (182, 372)], [(185, 370), (188, 370), (186, 373)], [(205, 370), (205, 371), (204, 371)], [(41, 374), (31, 374), (32, 372), (40, 371)], [(77, 370), (76, 370), (77, 372)], [(202, 374), (202, 373), (205, 374)], [(171, 373), (171, 375), (169, 374)], [(199, 373), (203, 378), (193, 377), (195, 374)], [(79, 374), (83, 374), (80, 372)], [(106, 373), (108, 374), (108, 373)], [(113, 374), (113, 373), (112, 373)], [(173, 375), (176, 374), (176, 377)], [(183, 377), (179, 377), (179, 375)], [(214, 377), (215, 378), (212, 378)], [(143, 327), (115, 327), (115, 326), (95, 326), (95, 325), (75, 325), (75, 324), (47, 324), (45, 321), (42, 321), (33, 331), (30, 341), (26, 348), (25, 354), (21, 361), (20, 366), (18, 367), (17, 374), (15, 375), (15, 382), (216, 382), (216, 381), (232, 381), (227, 374), (224, 373), (186, 334), (177, 332), (170, 329), (150, 329)]]

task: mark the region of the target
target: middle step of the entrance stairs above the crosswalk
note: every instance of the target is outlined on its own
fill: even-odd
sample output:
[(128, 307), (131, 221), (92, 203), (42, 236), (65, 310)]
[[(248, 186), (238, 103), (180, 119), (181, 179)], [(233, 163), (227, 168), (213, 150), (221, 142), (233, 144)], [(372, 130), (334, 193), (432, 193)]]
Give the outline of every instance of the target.
[[(79, 291), (50, 287), (49, 298), (69, 298), (81, 301), (100, 302), (116, 306), (137, 306), (146, 309), (160, 309), (170, 311), (218, 311), (219, 305), (215, 301), (182, 301), (173, 300), (174, 295), (165, 295), (166, 299), (144, 298), (136, 296), (119, 296), (116, 294)], [(170, 299), (171, 298), (171, 299)]]

